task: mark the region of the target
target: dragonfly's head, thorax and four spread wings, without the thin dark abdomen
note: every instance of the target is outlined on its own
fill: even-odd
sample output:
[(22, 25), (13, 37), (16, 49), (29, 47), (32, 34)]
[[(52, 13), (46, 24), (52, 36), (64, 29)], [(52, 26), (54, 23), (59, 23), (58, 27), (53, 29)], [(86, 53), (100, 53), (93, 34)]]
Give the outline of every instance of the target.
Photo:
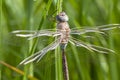
[(57, 20), (57, 27), (55, 30), (53, 29), (46, 29), (46, 30), (39, 30), (39, 31), (15, 30), (12, 32), (16, 36), (27, 37), (28, 40), (31, 40), (33, 38), (40, 37), (40, 36), (56, 37), (55, 41), (53, 41), (50, 45), (34, 53), (33, 55), (25, 58), (20, 63), (20, 65), (21, 64), (25, 65), (30, 62), (39, 62), (43, 58), (43, 56), (46, 55), (48, 51), (54, 50), (58, 46), (60, 46), (60, 49), (64, 51), (68, 43), (71, 43), (75, 46), (86, 48), (89, 51), (95, 51), (99, 53), (108, 53), (108, 52), (114, 53), (114, 51), (111, 49), (85, 43), (84, 41), (78, 40), (72, 37), (71, 35), (82, 35), (86, 33), (104, 34), (104, 31), (108, 31), (108, 30), (115, 29), (115, 28), (120, 28), (120, 24), (108, 24), (108, 25), (102, 25), (102, 26), (97, 26), (94, 28), (85, 28), (85, 29), (84, 28), (83, 29), (77, 29), (77, 28), (70, 29), (69, 24), (68, 24), (69, 18), (65, 12), (60, 12), (56, 16), (56, 20)]

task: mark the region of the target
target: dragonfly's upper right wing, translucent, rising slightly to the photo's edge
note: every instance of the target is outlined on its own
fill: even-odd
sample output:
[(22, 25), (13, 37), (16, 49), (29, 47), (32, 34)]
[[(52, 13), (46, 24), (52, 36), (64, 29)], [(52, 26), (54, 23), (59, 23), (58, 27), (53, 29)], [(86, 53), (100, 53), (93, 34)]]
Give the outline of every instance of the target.
[(97, 33), (104, 34), (103, 31), (107, 31), (115, 28), (120, 28), (120, 24), (108, 24), (108, 25), (101, 25), (94, 28), (85, 28), (85, 29), (71, 29), (70, 34), (81, 35), (81, 34), (90, 33), (90, 32), (97, 32)]

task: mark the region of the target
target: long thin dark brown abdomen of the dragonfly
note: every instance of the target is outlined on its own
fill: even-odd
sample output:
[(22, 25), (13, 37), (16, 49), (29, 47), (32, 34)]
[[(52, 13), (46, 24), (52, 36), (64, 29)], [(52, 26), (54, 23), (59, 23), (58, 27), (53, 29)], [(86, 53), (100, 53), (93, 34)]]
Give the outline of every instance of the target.
[(63, 66), (63, 77), (64, 77), (64, 80), (69, 80), (67, 58), (66, 58), (64, 49), (62, 49), (62, 66)]

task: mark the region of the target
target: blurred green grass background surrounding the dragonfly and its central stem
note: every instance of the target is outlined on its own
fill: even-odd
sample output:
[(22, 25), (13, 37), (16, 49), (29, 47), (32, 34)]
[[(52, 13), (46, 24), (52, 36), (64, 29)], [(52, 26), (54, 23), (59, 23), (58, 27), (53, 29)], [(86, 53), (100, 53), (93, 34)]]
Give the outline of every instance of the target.
[[(55, 15), (59, 8), (69, 16), (71, 28), (120, 24), (120, 0), (63, 0), (60, 4), (58, 1), (62, 0), (0, 1), (0, 80), (63, 80), (56, 71), (54, 50), (39, 63), (18, 66), (25, 57), (50, 44), (53, 37), (28, 41), (11, 33), (14, 30), (55, 29)], [(113, 49), (116, 54), (91, 53), (68, 44), (70, 80), (120, 80), (120, 29), (106, 33), (107, 36), (94, 34), (94, 39), (84, 41)], [(17, 68), (16, 71), (13, 68)], [(23, 72), (19, 73), (18, 69)]]

